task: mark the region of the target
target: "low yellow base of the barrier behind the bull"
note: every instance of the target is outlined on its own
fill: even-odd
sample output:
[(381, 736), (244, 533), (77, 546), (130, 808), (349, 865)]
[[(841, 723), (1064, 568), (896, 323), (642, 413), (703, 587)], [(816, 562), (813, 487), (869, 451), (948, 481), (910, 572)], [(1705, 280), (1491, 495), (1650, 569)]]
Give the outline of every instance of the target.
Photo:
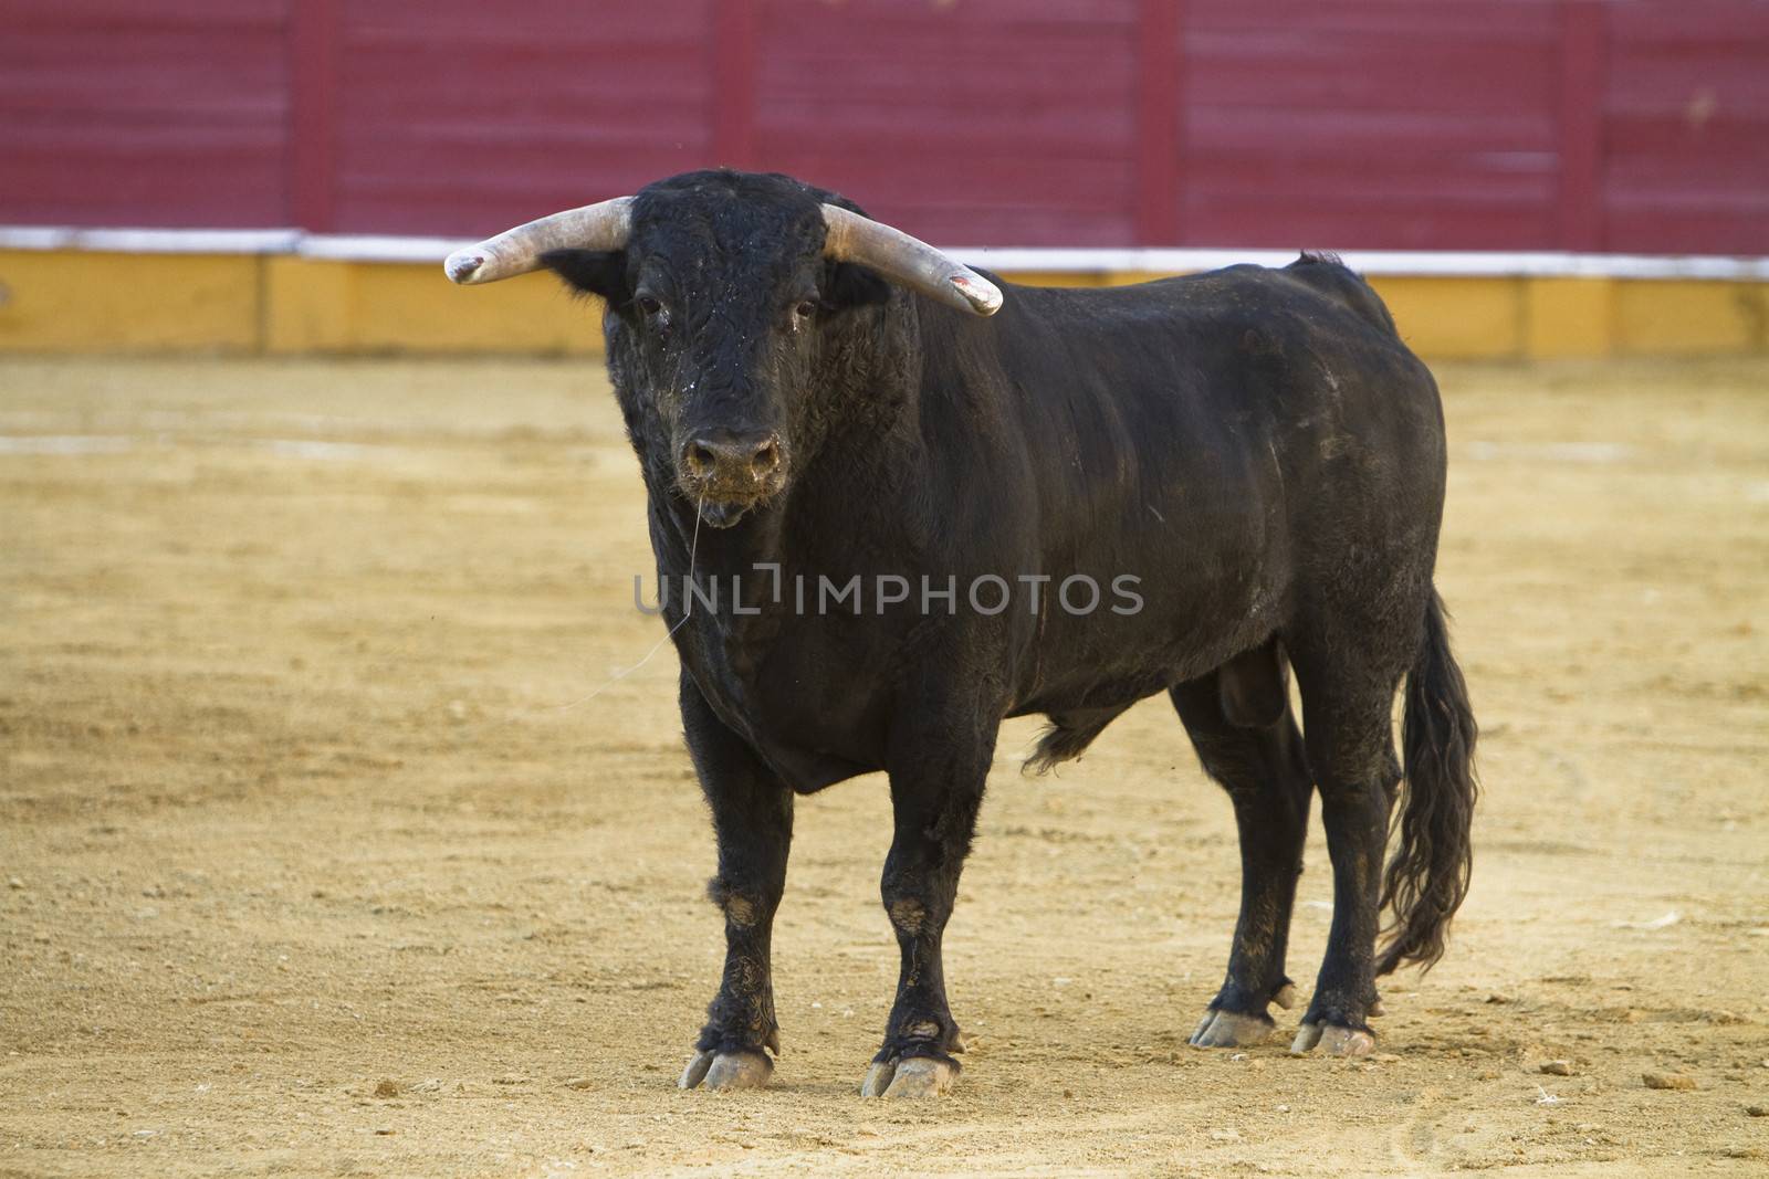
[[(1102, 286), (1143, 272), (1008, 274)], [(1424, 357), (1535, 359), (1769, 348), (1769, 283), (1373, 276)], [(297, 255), (0, 251), (0, 352), (584, 355), (601, 308), (532, 274), (449, 285), (435, 263)]]

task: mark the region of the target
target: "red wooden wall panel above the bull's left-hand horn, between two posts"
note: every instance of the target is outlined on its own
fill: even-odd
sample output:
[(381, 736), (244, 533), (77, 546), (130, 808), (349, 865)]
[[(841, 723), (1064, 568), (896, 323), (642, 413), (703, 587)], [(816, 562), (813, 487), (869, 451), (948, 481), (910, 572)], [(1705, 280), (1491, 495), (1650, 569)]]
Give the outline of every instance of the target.
[(345, 5), (334, 221), (471, 237), (704, 168), (709, 0)]

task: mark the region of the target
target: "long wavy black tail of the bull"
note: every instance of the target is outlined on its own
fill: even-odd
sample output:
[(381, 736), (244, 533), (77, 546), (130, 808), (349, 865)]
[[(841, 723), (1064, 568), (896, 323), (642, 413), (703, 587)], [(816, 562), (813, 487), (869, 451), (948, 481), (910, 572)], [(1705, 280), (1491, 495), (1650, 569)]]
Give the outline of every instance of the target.
[(1479, 790), (1474, 742), (1479, 728), (1468, 707), (1468, 686), (1449, 649), (1444, 601), (1431, 592), (1426, 633), (1406, 675), (1401, 748), (1406, 799), (1399, 811), (1399, 848), (1382, 880), (1382, 903), (1394, 909), (1376, 974), (1417, 962), (1424, 969), (1444, 956), (1449, 919), (1468, 894), (1474, 850), (1468, 829)]

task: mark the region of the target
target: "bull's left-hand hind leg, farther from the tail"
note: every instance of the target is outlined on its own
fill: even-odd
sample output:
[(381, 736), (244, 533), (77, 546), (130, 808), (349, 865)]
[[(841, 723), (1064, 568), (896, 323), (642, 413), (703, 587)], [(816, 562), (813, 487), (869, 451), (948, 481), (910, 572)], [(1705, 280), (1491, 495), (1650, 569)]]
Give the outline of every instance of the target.
[(1228, 790), (1240, 827), (1240, 919), (1222, 990), (1192, 1032), (1198, 1048), (1268, 1039), (1268, 1006), (1288, 1008), (1295, 995), (1284, 949), (1311, 781), (1286, 689), (1283, 656), (1267, 645), (1169, 693), (1205, 772)]

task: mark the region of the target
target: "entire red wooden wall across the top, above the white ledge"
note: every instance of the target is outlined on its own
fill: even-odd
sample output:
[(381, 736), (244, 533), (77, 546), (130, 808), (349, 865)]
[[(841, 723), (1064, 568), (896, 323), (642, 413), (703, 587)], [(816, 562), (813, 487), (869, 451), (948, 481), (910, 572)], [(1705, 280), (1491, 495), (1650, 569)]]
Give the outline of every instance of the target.
[(1769, 2), (0, 0), (0, 223), (472, 235), (709, 164), (946, 244), (1769, 255)]

